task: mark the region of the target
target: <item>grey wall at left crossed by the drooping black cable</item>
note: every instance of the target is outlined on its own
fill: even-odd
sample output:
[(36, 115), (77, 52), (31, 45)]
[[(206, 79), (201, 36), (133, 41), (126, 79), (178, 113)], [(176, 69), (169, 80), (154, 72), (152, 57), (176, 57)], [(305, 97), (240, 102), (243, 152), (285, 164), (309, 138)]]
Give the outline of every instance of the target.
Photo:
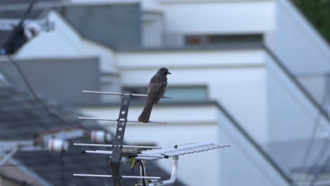
[[(18, 64), (37, 95), (62, 104), (97, 104), (99, 95), (82, 94), (83, 89), (100, 89), (97, 58), (31, 58)], [(0, 60), (0, 71), (11, 85), (30, 92), (18, 70), (8, 60)]]

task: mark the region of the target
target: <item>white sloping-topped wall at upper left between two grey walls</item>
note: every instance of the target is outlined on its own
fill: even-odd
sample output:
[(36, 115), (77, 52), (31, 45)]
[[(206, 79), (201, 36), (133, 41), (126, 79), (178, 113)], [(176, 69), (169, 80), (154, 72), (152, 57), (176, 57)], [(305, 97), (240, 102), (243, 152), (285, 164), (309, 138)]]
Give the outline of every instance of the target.
[(55, 29), (40, 32), (37, 37), (25, 44), (17, 54), (19, 58), (97, 56), (102, 72), (116, 73), (115, 63), (111, 63), (114, 55), (111, 49), (80, 37), (56, 11), (49, 12), (49, 21), (55, 23)]

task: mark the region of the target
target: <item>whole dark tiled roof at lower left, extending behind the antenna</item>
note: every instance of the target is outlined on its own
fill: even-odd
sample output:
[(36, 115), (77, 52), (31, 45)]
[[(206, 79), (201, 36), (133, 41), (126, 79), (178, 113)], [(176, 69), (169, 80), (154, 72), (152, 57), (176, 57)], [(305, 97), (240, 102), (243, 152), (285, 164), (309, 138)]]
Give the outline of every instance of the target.
[[(32, 140), (35, 132), (84, 128), (85, 130), (102, 129), (94, 121), (78, 120), (78, 112), (69, 106), (40, 99), (49, 110), (61, 116), (66, 123), (39, 108), (29, 93), (20, 91), (8, 83), (0, 82), (0, 140)], [(77, 139), (70, 142), (90, 142)], [(71, 145), (72, 146), (72, 145)], [(68, 152), (18, 151), (13, 158), (32, 173), (50, 183), (50, 185), (113, 185), (112, 180), (104, 178), (76, 178), (73, 173), (111, 174), (107, 163), (108, 156), (81, 154), (83, 147), (71, 147)], [(61, 159), (63, 158), (63, 163)], [(6, 166), (4, 167), (6, 168)], [(122, 168), (123, 175), (138, 175), (138, 168), (130, 171)], [(148, 163), (147, 174), (168, 179), (169, 174), (161, 170), (155, 162)], [(62, 176), (63, 175), (63, 176)], [(63, 184), (62, 184), (63, 180)], [(24, 181), (24, 180), (22, 180)], [(124, 180), (124, 185), (134, 185), (138, 180)], [(177, 181), (176, 186), (183, 185)]]

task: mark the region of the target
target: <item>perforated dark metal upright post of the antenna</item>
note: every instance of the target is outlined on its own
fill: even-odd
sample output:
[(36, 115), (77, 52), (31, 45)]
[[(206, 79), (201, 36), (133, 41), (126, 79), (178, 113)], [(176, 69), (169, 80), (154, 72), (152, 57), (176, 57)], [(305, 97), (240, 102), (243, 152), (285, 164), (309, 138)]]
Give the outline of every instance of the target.
[(130, 105), (130, 92), (123, 92), (121, 99), (121, 111), (119, 112), (116, 137), (113, 144), (113, 152), (111, 154), (111, 169), (114, 178), (115, 186), (122, 186), (120, 163), (121, 163), (121, 148), (123, 147), (123, 137), (125, 134), (128, 107)]

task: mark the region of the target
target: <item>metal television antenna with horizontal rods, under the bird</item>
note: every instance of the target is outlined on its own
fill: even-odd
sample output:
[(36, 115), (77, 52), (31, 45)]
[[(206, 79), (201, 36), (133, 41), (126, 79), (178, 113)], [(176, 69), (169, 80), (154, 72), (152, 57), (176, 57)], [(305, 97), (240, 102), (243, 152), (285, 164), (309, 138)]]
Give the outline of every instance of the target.
[[(128, 109), (130, 105), (130, 97), (147, 97), (147, 94), (132, 94), (131, 92), (96, 92), (96, 91), (82, 91), (84, 93), (90, 94), (109, 94), (121, 96), (121, 109), (119, 111), (118, 119), (108, 119), (108, 118), (87, 118), (79, 117), (85, 120), (109, 120), (117, 121), (116, 136), (114, 138), (113, 144), (84, 144), (75, 143), (75, 146), (86, 146), (86, 147), (110, 147), (111, 151), (104, 150), (85, 150), (85, 153), (89, 154), (108, 154), (110, 156), (110, 163), (113, 175), (95, 175), (95, 174), (73, 174), (73, 176), (82, 177), (99, 177), (99, 178), (112, 178), (114, 180), (115, 186), (123, 186), (122, 179), (141, 179), (141, 182), (137, 185), (143, 186), (163, 186), (172, 185), (176, 180), (176, 175), (178, 173), (178, 156), (183, 156), (185, 154), (194, 154), (202, 151), (209, 151), (214, 149), (220, 149), (224, 147), (230, 147), (229, 144), (214, 144), (212, 142), (202, 142), (202, 143), (191, 143), (184, 145), (175, 145), (173, 148), (162, 149), (161, 147), (150, 147), (150, 146), (133, 146), (124, 145), (124, 135), (126, 130), (126, 123), (138, 122), (136, 120), (128, 120)], [(165, 99), (170, 99), (171, 97), (163, 97)], [(149, 123), (166, 123), (162, 121), (152, 121)], [(135, 159), (141, 161), (140, 164), (140, 175), (121, 175), (120, 169), (122, 163), (127, 163), (129, 159)], [(158, 159), (173, 159), (172, 173), (169, 180), (161, 180), (158, 176), (146, 176), (146, 162), (154, 161)]]

